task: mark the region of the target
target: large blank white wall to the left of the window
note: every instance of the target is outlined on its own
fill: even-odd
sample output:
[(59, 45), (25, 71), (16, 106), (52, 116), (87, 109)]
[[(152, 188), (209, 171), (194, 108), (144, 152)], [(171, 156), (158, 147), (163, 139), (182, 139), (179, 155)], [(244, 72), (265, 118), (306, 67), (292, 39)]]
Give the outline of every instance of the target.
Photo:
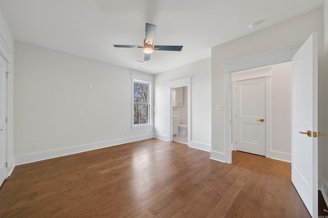
[(18, 164), (43, 158), (22, 158), (34, 153), (153, 136), (153, 128), (131, 129), (131, 70), (19, 41), (14, 52)]

